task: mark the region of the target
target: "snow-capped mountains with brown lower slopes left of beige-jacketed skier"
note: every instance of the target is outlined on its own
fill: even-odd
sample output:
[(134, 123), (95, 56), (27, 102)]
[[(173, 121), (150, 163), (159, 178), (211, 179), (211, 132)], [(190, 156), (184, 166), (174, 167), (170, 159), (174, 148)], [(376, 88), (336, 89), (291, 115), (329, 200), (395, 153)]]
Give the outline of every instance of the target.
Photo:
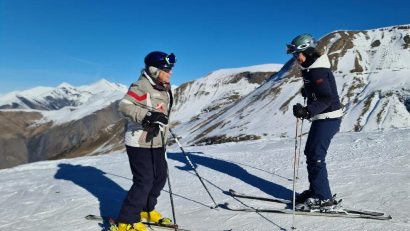
[(123, 122), (116, 104), (127, 90), (102, 79), (0, 96), (0, 168), (100, 153), (101, 145), (118, 149)]

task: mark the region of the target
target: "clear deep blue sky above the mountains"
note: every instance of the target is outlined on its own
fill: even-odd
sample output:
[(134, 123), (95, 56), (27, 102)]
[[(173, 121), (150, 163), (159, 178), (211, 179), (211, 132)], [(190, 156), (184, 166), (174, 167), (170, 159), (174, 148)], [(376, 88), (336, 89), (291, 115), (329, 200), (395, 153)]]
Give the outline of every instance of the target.
[(173, 52), (171, 83), (289, 60), (301, 33), (410, 23), (410, 1), (0, 0), (0, 94), (99, 79), (130, 85), (150, 51)]

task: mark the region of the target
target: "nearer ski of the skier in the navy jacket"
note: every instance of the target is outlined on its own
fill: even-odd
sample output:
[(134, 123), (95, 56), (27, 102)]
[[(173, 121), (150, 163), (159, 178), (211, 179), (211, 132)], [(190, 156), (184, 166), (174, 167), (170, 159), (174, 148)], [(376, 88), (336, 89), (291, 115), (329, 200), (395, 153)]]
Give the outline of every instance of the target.
[[(235, 211), (286, 213), (286, 214), (292, 214), (293, 213), (292, 209), (286, 209), (286, 208), (252, 208), (252, 207), (246, 207), (246, 206), (234, 206), (234, 205), (231, 205), (230, 203), (225, 203), (225, 206), (229, 210), (235, 210)], [(392, 219), (391, 216), (373, 216), (373, 215), (367, 215), (367, 214), (357, 214), (357, 213), (347, 213), (347, 212), (346, 213), (326, 213), (326, 212), (319, 211), (319, 210), (313, 211), (313, 212), (295, 211), (295, 214), (297, 214), (297, 215), (326, 216), (326, 217), (368, 218), (368, 219), (378, 219), (378, 220)]]

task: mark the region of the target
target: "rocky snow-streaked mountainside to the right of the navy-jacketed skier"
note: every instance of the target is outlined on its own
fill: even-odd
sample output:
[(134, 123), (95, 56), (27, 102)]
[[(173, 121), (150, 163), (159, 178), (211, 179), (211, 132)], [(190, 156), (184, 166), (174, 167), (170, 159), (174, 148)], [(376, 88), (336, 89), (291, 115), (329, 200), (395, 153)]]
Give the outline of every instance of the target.
[(342, 131), (410, 126), (410, 25), (337, 31), (320, 45), (344, 104)]

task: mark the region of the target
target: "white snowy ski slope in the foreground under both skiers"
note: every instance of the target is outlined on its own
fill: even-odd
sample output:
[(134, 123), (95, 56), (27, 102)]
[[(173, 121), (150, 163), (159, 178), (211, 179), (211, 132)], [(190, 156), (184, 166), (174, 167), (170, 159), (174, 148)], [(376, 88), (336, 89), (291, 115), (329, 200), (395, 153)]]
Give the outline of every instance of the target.
[[(410, 128), (339, 133), (326, 159), (333, 193), (346, 208), (384, 212), (378, 221), (296, 215), (298, 230), (410, 230)], [(304, 145), (306, 136), (302, 139)], [(293, 188), (294, 139), (264, 139), (185, 147), (215, 201), (222, 205), (286, 205), (233, 198), (229, 189), (261, 196), (290, 198)], [(303, 151), (303, 147), (302, 147)], [(291, 231), (292, 215), (211, 208), (214, 203), (178, 146), (168, 150), (176, 220), (198, 231)], [(307, 189), (301, 153), (297, 192)], [(122, 151), (94, 157), (43, 161), (0, 170), (0, 227), (30, 231), (106, 231), (108, 224), (89, 221), (88, 214), (116, 218), (132, 184)], [(172, 217), (168, 184), (157, 210)], [(160, 230), (155, 228), (155, 230)]]

